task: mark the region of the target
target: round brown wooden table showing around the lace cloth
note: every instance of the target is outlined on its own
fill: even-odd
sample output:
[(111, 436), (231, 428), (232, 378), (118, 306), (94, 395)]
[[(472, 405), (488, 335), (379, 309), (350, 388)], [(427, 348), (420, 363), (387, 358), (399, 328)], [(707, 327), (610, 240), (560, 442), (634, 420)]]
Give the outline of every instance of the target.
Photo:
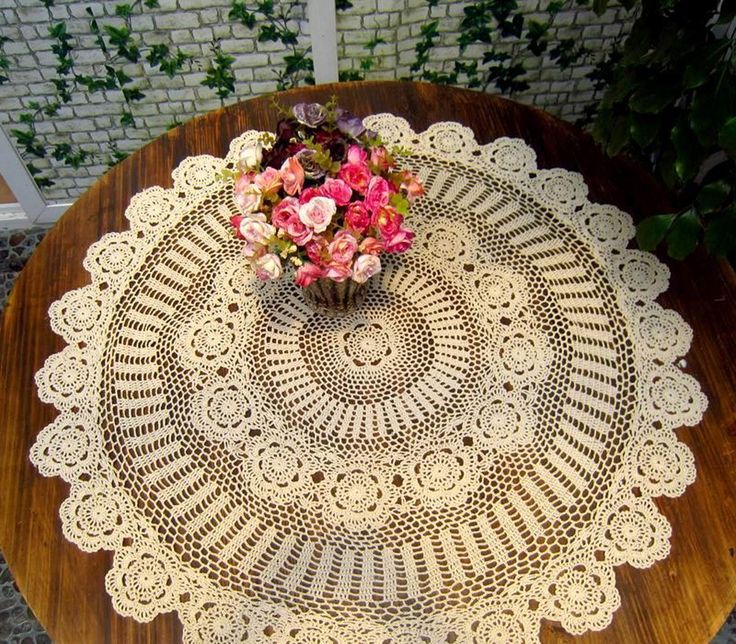
[[(613, 203), (635, 218), (663, 211), (667, 196), (637, 165), (601, 154), (587, 135), (533, 108), (476, 92), (425, 84), (375, 82), (294, 90), (282, 101), (325, 102), (336, 94), (358, 115), (392, 112), (416, 131), (453, 120), (482, 143), (524, 138), (540, 167), (581, 172), (592, 201)], [(127, 228), (131, 196), (171, 186), (171, 169), (196, 154), (224, 156), (246, 129), (273, 129), (267, 98), (195, 119), (133, 155), (98, 181), (62, 217), (29, 261), (11, 294), (0, 329), (0, 547), (18, 586), (58, 644), (177, 642), (175, 614), (139, 624), (120, 617), (105, 593), (112, 555), (82, 553), (61, 533), (58, 509), (68, 486), (41, 477), (28, 459), (35, 436), (56, 415), (39, 402), (34, 373), (64, 342), (48, 324), (49, 305), (89, 282), (86, 249), (104, 233)], [(545, 642), (698, 644), (708, 642), (736, 604), (736, 279), (725, 264), (697, 255), (670, 263), (670, 289), (660, 298), (693, 327), (689, 371), (710, 400), (701, 425), (678, 435), (695, 455), (698, 478), (684, 496), (657, 505), (672, 523), (672, 552), (648, 570), (616, 569), (622, 607), (603, 632), (574, 638), (543, 623)]]

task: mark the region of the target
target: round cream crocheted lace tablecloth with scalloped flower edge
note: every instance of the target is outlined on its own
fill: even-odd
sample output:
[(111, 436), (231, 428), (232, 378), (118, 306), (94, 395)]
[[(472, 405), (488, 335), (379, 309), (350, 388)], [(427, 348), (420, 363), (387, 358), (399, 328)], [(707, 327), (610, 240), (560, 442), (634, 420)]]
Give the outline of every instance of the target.
[(668, 269), (520, 140), (366, 121), (427, 196), (351, 317), (247, 269), (215, 177), (257, 132), (89, 249), (36, 377), (60, 414), (31, 459), (71, 484), (64, 534), (115, 552), (118, 612), (176, 610), (190, 643), (603, 629), (614, 567), (669, 552), (652, 498), (695, 477), (673, 430), (706, 400), (677, 363), (689, 327), (654, 301)]

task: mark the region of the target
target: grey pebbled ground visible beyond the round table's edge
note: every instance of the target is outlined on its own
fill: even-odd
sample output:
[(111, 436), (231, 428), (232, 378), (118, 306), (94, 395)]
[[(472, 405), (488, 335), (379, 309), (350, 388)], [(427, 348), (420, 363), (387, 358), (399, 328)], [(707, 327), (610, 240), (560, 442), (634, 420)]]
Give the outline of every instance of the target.
[[(43, 238), (46, 228), (0, 231), (0, 311), (15, 278)], [(0, 644), (49, 644), (51, 640), (18, 592), (0, 553)], [(81, 644), (81, 643), (80, 643)], [(632, 644), (640, 644), (632, 642)], [(641, 643), (643, 644), (643, 643)], [(701, 644), (693, 642), (693, 644)], [(705, 643), (702, 643), (705, 644)], [(711, 644), (736, 644), (736, 608)]]

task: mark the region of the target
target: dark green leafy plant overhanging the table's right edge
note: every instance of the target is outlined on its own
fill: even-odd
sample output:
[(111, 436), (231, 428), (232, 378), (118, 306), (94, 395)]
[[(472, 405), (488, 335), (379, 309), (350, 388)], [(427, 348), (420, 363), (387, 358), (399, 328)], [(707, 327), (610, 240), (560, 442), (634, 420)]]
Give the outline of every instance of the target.
[[(630, 36), (595, 70), (591, 116), (610, 155), (649, 165), (677, 210), (644, 219), (637, 240), (684, 259), (700, 243), (736, 260), (736, 15), (711, 0), (642, 3)], [(716, 29), (714, 29), (716, 25)]]

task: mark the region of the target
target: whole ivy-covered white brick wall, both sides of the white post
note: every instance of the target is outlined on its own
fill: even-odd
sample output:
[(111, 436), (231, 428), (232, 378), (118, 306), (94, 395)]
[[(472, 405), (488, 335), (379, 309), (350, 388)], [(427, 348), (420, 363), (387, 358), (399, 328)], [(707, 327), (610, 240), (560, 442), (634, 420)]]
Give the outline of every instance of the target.
[[(122, 0), (121, 0), (122, 1)], [(448, 71), (459, 58), (457, 38), (463, 8), (468, 2), (441, 0), (430, 7), (426, 0), (352, 0), (353, 7), (338, 13), (338, 57), (341, 70), (358, 69), (367, 55), (365, 44), (374, 36), (387, 44), (376, 50), (377, 66), (366, 73), (368, 79), (405, 78), (415, 59), (414, 48), (421, 26), (430, 20), (440, 21), (441, 38), (432, 50), (432, 67)], [(4, 46), (11, 63), (10, 83), (0, 86), (0, 122), (6, 131), (18, 127), (20, 115), (33, 101), (43, 103), (54, 96), (51, 80), (57, 77), (56, 57), (51, 51), (54, 40), (48, 34), (52, 22), (64, 21), (73, 36), (75, 69), (81, 74), (104, 74), (104, 55), (94, 44), (89, 29), (90, 8), (100, 24), (120, 26), (115, 16), (118, 2), (56, 0), (50, 14), (40, 0), (0, 0), (0, 34), (10, 38)], [(183, 122), (198, 114), (220, 107), (215, 91), (201, 85), (212, 58), (209, 43), (219, 39), (225, 53), (235, 57), (236, 94), (226, 103), (276, 90), (274, 68), (283, 65), (284, 48), (278, 43), (256, 42), (256, 31), (228, 18), (232, 0), (159, 0), (160, 8), (138, 7), (132, 18), (134, 32), (146, 45), (166, 43), (180, 47), (194, 57), (182, 74), (169, 79), (160, 71), (141, 64), (126, 64), (123, 70), (135, 79), (131, 86), (146, 94), (136, 103), (135, 128), (119, 123), (122, 95), (119, 91), (87, 94), (73, 92), (73, 100), (53, 118), (44, 118), (37, 126), (40, 138), (51, 144), (70, 141), (95, 153), (94, 160), (74, 170), (53, 159), (34, 160), (55, 185), (46, 188), (49, 201), (73, 199), (89, 187), (107, 169), (109, 144), (117, 141), (120, 150), (132, 152), (166, 131), (175, 121)], [(248, 3), (252, 6), (252, 2)], [(542, 6), (547, 1), (541, 0)], [(522, 0), (528, 17), (543, 19), (540, 0)], [(297, 9), (293, 26), (299, 29), (299, 46), (309, 45), (306, 8)], [(556, 17), (551, 37), (576, 38), (594, 53), (583, 64), (560, 71), (548, 56), (526, 55), (523, 42), (511, 53), (528, 70), (530, 88), (512, 98), (540, 106), (563, 118), (574, 119), (592, 98), (590, 81), (585, 74), (593, 62), (610, 47), (624, 29), (623, 10), (613, 9), (596, 17), (588, 8), (564, 11)], [(471, 45), (462, 59), (482, 56), (483, 46)], [(493, 88), (489, 88), (493, 91)]]

